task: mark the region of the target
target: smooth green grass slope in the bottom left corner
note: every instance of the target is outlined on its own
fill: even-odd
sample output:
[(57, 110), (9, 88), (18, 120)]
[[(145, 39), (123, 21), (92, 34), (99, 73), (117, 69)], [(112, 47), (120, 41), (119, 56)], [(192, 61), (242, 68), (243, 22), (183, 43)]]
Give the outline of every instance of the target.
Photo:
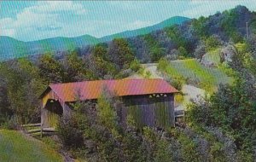
[(43, 142), (15, 130), (0, 130), (0, 161), (55, 162), (63, 159)]

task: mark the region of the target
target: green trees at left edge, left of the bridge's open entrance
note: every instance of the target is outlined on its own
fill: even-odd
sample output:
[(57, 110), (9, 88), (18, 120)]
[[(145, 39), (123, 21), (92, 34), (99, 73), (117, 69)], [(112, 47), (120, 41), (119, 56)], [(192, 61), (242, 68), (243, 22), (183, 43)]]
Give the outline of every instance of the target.
[(11, 119), (16, 115), (19, 123), (38, 122), (38, 95), (44, 90), (44, 82), (39, 76), (38, 67), (31, 61), (9, 61), (1, 64), (0, 97), (1, 115)]

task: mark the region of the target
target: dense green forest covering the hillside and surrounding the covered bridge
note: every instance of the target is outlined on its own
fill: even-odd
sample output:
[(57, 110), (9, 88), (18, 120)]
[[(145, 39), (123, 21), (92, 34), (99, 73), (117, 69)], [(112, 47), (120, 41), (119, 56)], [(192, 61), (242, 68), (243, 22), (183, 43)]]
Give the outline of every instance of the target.
[[(218, 55), (218, 61), (207, 55)], [(173, 76), (170, 62), (189, 59), (232, 81)], [(185, 124), (139, 128), (130, 118), (124, 128), (116, 114), (119, 100), (106, 92), (95, 112), (90, 102), (74, 104), (73, 115), (57, 126), (58, 140), (42, 141), (88, 161), (255, 161), (256, 13), (243, 6), (146, 35), (1, 62), (0, 128), (39, 123), (38, 96), (49, 84), (127, 78), (152, 62), (177, 90), (194, 84), (209, 93), (187, 106)]]

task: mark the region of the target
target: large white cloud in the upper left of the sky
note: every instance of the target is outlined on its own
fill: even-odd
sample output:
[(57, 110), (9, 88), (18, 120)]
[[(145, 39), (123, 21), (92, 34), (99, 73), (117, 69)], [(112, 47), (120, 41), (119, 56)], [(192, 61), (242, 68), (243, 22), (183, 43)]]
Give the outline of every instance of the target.
[[(34, 34), (34, 39), (39, 39), (42, 34), (55, 37), (55, 33), (51, 32), (53, 29), (67, 26), (59, 20), (63, 12), (82, 15), (86, 14), (87, 10), (82, 4), (71, 1), (38, 2), (35, 6), (23, 9), (15, 18), (0, 20), (0, 35), (19, 38), (22, 34)], [(44, 32), (40, 29), (44, 29)]]

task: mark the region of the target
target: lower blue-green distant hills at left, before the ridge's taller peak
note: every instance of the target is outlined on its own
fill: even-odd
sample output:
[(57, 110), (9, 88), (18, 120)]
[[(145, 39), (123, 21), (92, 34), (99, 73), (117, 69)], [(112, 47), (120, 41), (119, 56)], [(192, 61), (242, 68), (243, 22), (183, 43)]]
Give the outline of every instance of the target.
[(96, 44), (100, 41), (90, 35), (77, 38), (48, 38), (32, 42), (22, 42), (15, 38), (0, 37), (0, 61), (20, 58), (28, 55), (44, 54), (49, 51), (64, 51)]

